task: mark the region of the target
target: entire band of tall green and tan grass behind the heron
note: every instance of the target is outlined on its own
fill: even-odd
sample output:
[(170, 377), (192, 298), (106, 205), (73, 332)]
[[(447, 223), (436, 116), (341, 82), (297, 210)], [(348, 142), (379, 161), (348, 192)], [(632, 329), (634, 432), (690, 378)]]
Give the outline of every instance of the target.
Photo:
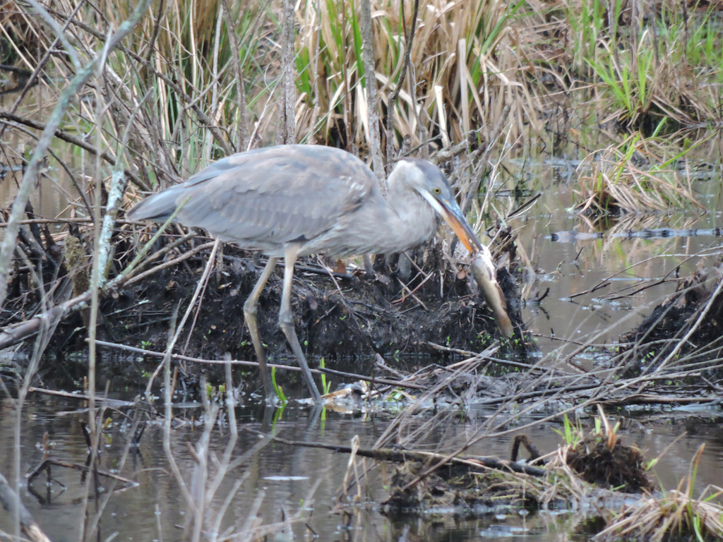
[[(579, 108), (578, 131), (615, 122), (649, 134), (661, 120), (667, 131), (720, 122), (723, 47), (712, 6), (654, 4), (638, 13), (621, 1), (419, 0), (414, 20), (414, 1), (371, 4), (379, 108), (393, 124), (391, 131), (382, 126), (382, 137), (390, 134), (395, 149), (405, 137), (413, 150), (429, 142), (432, 149), (467, 139), (484, 144), (484, 132), (477, 131), (500, 119), (510, 143), (534, 145), (547, 137), (550, 114), (564, 116), (570, 105)], [(369, 106), (359, 1), (295, 5), (296, 139), (365, 150)], [(72, 15), (69, 29), (81, 52), (102, 39), (97, 29), (127, 12), (115, 4), (100, 12), (74, 7), (58, 1), (51, 14), (60, 25)], [(124, 54), (108, 59), (114, 75), (103, 84), (124, 103), (108, 111), (108, 148), (121, 141), (132, 117), (130, 162), (150, 185), (273, 142), (281, 0), (175, 0), (155, 9)], [(34, 68), (33, 58), (54, 36), (24, 4), (14, 4), (12, 17), (5, 13), (6, 40), (14, 39), (17, 58)], [(56, 55), (43, 69), (54, 82), (72, 72)], [(70, 121), (74, 132), (93, 129), (84, 118), (79, 103)]]

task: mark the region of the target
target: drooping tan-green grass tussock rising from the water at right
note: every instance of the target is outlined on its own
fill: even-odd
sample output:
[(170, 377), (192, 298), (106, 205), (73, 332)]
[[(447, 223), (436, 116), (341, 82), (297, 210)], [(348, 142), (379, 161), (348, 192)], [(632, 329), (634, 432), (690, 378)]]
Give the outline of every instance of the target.
[[(669, 148), (669, 147), (668, 147)], [(656, 212), (702, 206), (661, 139), (639, 132), (594, 152), (578, 168), (578, 211), (592, 214)]]

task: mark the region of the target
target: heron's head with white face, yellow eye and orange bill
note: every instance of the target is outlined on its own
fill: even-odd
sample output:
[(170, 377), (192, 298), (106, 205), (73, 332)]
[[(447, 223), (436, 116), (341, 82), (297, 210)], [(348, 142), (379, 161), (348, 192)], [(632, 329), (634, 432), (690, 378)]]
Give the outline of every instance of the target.
[(447, 181), (447, 177), (427, 160), (403, 158), (389, 176), (390, 184), (401, 183), (422, 196), (462, 241), (471, 253), (482, 250)]

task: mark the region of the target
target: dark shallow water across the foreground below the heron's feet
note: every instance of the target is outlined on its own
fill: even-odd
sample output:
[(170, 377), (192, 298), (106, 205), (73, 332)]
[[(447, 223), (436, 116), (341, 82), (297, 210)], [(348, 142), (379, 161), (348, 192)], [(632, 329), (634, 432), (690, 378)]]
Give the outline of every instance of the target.
[[(33, 470), (43, 460), (36, 444), (42, 440), (45, 431), (54, 443), (52, 458), (85, 464), (87, 448), (80, 421), (85, 419), (86, 413), (77, 410), (78, 406), (78, 403), (67, 400), (31, 396), (22, 416), (22, 473)], [(0, 403), (0, 412), (0, 470), (11, 473), (12, 403), (4, 400)], [(476, 419), (484, 419), (484, 413), (476, 415)], [(128, 426), (117, 413), (109, 411), (108, 416), (114, 416), (115, 421), (103, 434), (100, 468), (130, 478), (138, 486), (111, 494), (100, 520), (100, 539), (150, 541), (180, 538), (178, 526), (184, 524), (187, 507), (168, 471), (163, 453), (163, 430), (155, 425), (147, 427), (137, 452), (130, 454), (120, 468), (129, 437)], [(265, 432), (273, 429), (284, 439), (349, 444), (350, 439), (358, 435), (361, 447), (370, 447), (375, 442), (387, 428), (389, 418), (383, 414), (353, 418), (327, 411), (321, 418), (312, 420), (309, 419), (309, 410), (290, 407), (274, 423), (264, 421), (261, 410), (238, 410), (238, 421), (242, 426)], [(530, 420), (517, 422), (525, 421)], [(723, 436), (719, 423), (716, 413), (707, 410), (700, 413), (683, 410), (647, 412), (639, 418), (623, 418), (620, 434), (625, 442), (638, 444), (646, 451), (647, 457), (654, 457), (669, 447), (654, 470), (656, 479), (667, 488), (674, 488), (688, 474), (690, 458), (705, 442), (706, 449), (696, 481), (696, 488), (703, 489), (707, 483), (723, 486)], [(445, 426), (443, 434), (442, 429), (440, 434), (429, 434), (427, 440), (435, 448), (435, 444), (443, 439), (446, 449), (450, 449), (464, 442), (478, 428), (479, 423), (468, 419), (464, 423)], [(546, 422), (526, 434), (540, 449), (550, 451), (561, 441), (555, 429), (562, 429), (559, 423)], [(171, 434), (171, 449), (187, 483), (194, 470), (188, 445), (197, 443), (201, 434), (200, 427), (190, 425), (174, 429)], [(679, 439), (683, 434), (685, 436)], [(512, 439), (511, 435), (484, 439), (472, 447), (469, 454), (508, 457)], [(241, 431), (231, 452), (231, 460), (240, 457), (258, 440), (255, 434)], [(210, 439), (212, 455), (222, 457), (227, 443), (226, 431), (213, 431)], [(378, 468), (370, 476), (368, 491), (362, 494), (365, 504), (348, 507), (348, 515), (335, 514), (333, 509), (338, 502), (347, 461), (348, 457), (343, 454), (271, 442), (223, 478), (217, 498), (209, 507), (205, 528), (213, 530), (223, 499), (240, 480), (238, 491), (220, 522), (220, 533), (226, 529), (242, 530), (247, 525), (249, 514), (256, 509), (264, 524), (282, 522), (285, 515), (293, 517), (301, 510), (302, 519), (291, 524), (293, 539), (303, 539), (308, 534), (305, 525), (309, 525), (318, 539), (324, 541), (395, 541), (406, 528), (410, 536), (424, 540), (484, 541), (523, 535), (526, 540), (553, 541), (559, 540), (560, 536), (568, 538), (570, 531), (577, 532), (579, 529), (580, 518), (568, 512), (525, 514), (512, 511), (471, 519), (453, 515), (390, 519), (382, 515), (374, 504), (388, 496), (385, 487), (393, 470), (389, 465)], [(36, 479), (32, 486), (33, 494), (27, 487), (22, 489), (22, 500), (54, 541), (77, 540), (82, 522), (84, 476), (59, 467), (54, 467), (52, 472), (54, 483), (46, 486), (43, 480)], [(210, 472), (214, 473), (215, 469), (210, 468)], [(103, 480), (102, 485), (107, 488), (109, 484)], [(103, 498), (105, 494), (101, 494)], [(93, 499), (90, 509), (95, 510)], [(1, 515), (0, 529), (9, 529), (7, 517)], [(586, 540), (589, 535), (578, 532), (573, 538)]]

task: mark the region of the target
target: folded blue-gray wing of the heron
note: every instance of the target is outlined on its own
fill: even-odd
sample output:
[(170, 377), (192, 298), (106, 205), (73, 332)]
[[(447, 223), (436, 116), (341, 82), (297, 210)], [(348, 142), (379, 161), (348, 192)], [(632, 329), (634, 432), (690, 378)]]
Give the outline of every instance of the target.
[(185, 202), (178, 222), (268, 249), (322, 235), (377, 191), (372, 171), (346, 151), (266, 147), (218, 160), (184, 184), (145, 199), (129, 218), (163, 220)]

